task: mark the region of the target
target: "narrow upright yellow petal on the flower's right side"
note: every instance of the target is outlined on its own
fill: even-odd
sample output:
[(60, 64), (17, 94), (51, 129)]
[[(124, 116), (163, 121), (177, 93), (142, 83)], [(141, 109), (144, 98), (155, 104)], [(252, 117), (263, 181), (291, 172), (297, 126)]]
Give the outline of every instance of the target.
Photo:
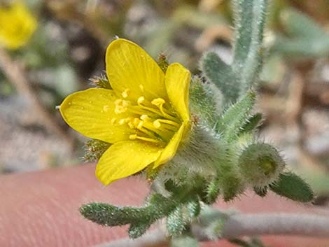
[(190, 112), (188, 110), (190, 77), (190, 71), (179, 63), (170, 64), (165, 76), (169, 100), (178, 115), (184, 121), (190, 120)]

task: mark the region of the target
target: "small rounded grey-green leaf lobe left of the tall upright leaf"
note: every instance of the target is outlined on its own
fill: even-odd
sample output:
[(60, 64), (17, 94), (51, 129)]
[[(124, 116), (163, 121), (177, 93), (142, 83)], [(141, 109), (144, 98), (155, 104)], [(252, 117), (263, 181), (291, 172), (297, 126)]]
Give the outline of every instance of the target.
[(225, 64), (215, 52), (209, 52), (201, 59), (204, 76), (223, 93), (225, 104), (232, 104), (239, 97), (240, 84), (230, 65)]

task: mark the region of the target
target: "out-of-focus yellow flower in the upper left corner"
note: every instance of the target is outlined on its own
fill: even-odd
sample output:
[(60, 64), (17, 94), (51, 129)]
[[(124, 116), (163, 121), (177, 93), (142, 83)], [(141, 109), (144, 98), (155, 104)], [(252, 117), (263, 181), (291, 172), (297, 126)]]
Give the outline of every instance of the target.
[(0, 45), (8, 49), (20, 48), (36, 30), (36, 24), (36, 19), (22, 2), (0, 6)]

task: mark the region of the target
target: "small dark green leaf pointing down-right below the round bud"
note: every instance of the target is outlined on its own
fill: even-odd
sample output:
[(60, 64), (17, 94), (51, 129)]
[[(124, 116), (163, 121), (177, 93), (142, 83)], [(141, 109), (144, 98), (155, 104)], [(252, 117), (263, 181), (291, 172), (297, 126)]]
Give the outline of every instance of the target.
[(314, 199), (309, 185), (290, 171), (280, 174), (279, 179), (269, 185), (269, 188), (276, 194), (297, 202), (311, 202)]

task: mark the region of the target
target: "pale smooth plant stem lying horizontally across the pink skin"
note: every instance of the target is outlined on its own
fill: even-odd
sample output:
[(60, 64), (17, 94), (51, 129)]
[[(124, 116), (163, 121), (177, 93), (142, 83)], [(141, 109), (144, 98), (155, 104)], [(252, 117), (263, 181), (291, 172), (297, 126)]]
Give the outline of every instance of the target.
[[(192, 231), (199, 241), (209, 241), (199, 225)], [(329, 238), (329, 217), (298, 213), (238, 213), (228, 217), (218, 239), (255, 235), (297, 235)], [(165, 230), (149, 232), (139, 239), (120, 239), (97, 247), (165, 247), (169, 244)]]

